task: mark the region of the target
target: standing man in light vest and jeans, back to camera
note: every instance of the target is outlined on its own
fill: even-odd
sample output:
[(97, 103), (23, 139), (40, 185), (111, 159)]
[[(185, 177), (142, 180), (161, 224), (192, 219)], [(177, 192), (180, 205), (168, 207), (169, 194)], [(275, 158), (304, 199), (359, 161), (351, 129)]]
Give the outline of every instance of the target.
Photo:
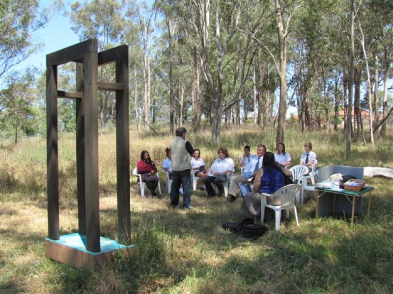
[(183, 208), (191, 208), (191, 155), (194, 148), (186, 141), (187, 130), (176, 129), (176, 138), (170, 143), (172, 151), (172, 186), (170, 188), (170, 208), (179, 204), (179, 188), (183, 184)]

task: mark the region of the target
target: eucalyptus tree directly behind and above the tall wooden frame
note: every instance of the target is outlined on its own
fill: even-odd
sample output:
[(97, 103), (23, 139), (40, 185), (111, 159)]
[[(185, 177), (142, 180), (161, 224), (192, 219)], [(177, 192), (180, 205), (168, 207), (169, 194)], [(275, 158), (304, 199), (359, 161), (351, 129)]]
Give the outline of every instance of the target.
[[(71, 4), (71, 29), (79, 35), (80, 41), (98, 39), (99, 50), (105, 50), (124, 43), (125, 0), (79, 1)], [(114, 66), (100, 67), (99, 79), (114, 81)], [(114, 95), (112, 92), (99, 91), (100, 133), (109, 120), (114, 122)]]

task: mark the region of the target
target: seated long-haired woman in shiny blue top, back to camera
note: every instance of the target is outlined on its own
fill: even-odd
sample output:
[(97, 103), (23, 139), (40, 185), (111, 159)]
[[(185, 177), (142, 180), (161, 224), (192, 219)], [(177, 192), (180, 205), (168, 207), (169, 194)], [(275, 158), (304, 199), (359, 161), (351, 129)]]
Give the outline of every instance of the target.
[[(284, 174), (291, 176), (292, 173), (282, 168), (275, 162), (272, 152), (265, 152), (262, 159), (262, 168), (255, 174), (253, 192), (247, 193), (243, 198), (241, 212), (248, 217), (258, 218), (261, 213), (261, 193), (274, 194), (285, 186)], [(279, 205), (279, 197), (266, 197), (267, 204)], [(265, 213), (266, 215), (266, 213)]]

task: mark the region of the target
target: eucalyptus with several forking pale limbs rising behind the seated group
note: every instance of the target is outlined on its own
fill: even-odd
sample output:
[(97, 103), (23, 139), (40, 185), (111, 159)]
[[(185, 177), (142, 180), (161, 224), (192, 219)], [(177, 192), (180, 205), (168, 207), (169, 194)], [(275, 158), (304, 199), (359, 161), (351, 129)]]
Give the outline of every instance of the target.
[[(195, 47), (206, 87), (205, 95), (211, 102), (211, 141), (214, 145), (220, 142), (220, 127), (225, 110), (240, 101), (248, 79), (247, 73), (252, 60), (248, 56), (253, 53), (250, 50), (252, 42), (251, 39), (246, 40), (245, 43), (240, 43), (240, 48), (236, 48), (239, 45), (237, 41), (240, 40), (237, 26), (244, 7), (252, 4), (248, 1), (219, 0), (189, 0), (185, 3), (187, 19), (184, 18), (184, 21), (191, 26), (190, 31), (192, 29), (197, 33)], [(241, 62), (237, 72), (230, 66), (235, 60)], [(233, 78), (234, 75), (238, 77)]]

